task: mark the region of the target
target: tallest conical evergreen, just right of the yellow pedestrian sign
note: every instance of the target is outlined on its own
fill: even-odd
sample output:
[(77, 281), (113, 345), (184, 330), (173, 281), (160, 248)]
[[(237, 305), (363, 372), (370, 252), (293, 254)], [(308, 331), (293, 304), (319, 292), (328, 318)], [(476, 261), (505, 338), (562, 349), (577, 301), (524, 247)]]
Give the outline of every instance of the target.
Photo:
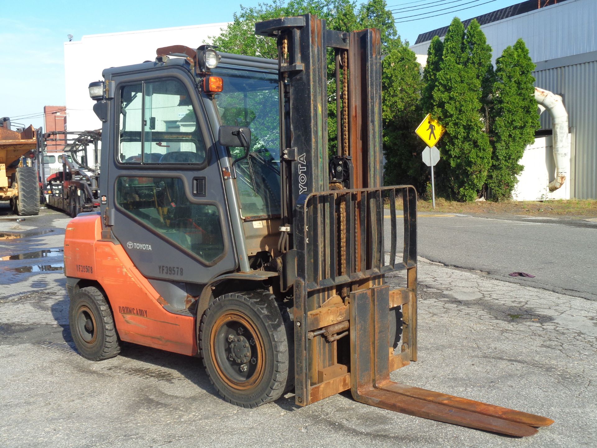
[[(433, 90), (432, 115), (445, 126), (438, 165), (445, 192), (473, 201), (487, 179), (491, 164), (489, 136), (481, 117), (482, 62), (476, 42), (465, 39), (464, 26), (454, 17), (444, 39), (444, 53)], [(480, 52), (479, 52), (480, 53)]]

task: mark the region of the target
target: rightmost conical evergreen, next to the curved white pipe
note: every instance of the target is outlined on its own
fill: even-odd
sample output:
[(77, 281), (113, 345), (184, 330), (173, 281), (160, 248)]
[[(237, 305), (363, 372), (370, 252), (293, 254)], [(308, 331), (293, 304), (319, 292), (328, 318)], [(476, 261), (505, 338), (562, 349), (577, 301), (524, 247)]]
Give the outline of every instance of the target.
[(491, 169), (487, 179), (494, 199), (509, 198), (522, 172), (519, 164), (525, 146), (534, 142), (540, 127), (534, 99), (533, 70), (527, 47), (518, 39), (496, 60), (493, 85), (493, 131), (495, 135)]

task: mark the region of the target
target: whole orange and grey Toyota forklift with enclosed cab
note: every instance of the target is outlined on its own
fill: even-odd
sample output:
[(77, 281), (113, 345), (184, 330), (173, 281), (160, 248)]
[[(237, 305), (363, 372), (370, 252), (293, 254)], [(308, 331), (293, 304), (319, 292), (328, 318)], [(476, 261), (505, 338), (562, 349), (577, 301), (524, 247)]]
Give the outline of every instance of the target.
[(417, 195), (381, 186), (380, 32), (307, 14), (256, 34), (276, 39), (277, 60), (174, 45), (90, 85), (105, 197), (64, 238), (80, 354), (104, 360), (128, 341), (201, 357), (242, 407), (350, 389), (361, 403), (518, 437), (552, 424), (390, 381), (418, 356)]

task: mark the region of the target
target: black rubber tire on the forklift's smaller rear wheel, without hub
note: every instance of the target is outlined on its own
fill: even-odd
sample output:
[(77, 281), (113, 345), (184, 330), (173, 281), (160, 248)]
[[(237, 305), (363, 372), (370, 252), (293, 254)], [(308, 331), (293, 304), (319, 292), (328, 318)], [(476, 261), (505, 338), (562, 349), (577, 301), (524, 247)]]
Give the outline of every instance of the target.
[[(93, 341), (86, 342), (79, 329), (78, 318), (87, 312), (93, 318)], [(104, 294), (93, 286), (76, 291), (70, 300), (69, 324), (75, 346), (82, 357), (91, 361), (107, 360), (120, 352), (120, 342), (112, 316), (112, 310)], [(89, 336), (89, 335), (85, 335)]]

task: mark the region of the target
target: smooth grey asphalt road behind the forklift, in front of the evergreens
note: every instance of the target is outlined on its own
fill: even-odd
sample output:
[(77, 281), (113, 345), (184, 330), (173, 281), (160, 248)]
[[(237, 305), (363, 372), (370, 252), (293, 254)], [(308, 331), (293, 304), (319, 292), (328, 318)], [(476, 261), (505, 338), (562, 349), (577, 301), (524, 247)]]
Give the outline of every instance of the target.
[[(384, 227), (389, 251), (388, 218)], [(427, 260), (597, 300), (597, 220), (422, 213), (417, 228), (418, 255)]]

